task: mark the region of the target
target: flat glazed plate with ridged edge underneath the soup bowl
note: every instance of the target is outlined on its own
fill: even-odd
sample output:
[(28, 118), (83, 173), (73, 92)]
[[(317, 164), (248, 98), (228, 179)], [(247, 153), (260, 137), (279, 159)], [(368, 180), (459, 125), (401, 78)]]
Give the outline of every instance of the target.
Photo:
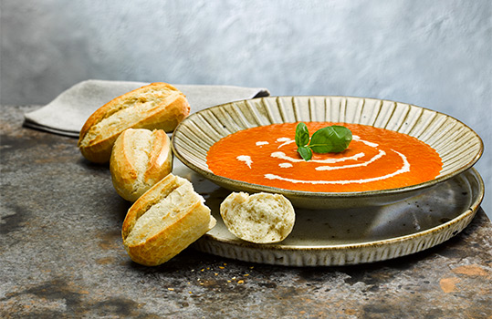
[(206, 199), (215, 228), (194, 243), (202, 252), (246, 262), (286, 266), (340, 266), (384, 261), (424, 251), (461, 232), (484, 196), (475, 169), (466, 170), (416, 197), (391, 205), (344, 210), (299, 210), (283, 242), (244, 242), (229, 232), (220, 203), (230, 191), (197, 174), (186, 176)]

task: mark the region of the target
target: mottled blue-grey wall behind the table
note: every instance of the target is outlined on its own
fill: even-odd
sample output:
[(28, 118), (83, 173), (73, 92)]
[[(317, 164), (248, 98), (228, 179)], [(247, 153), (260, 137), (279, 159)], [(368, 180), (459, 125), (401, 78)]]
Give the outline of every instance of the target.
[(2, 104), (88, 78), (393, 99), (475, 129), (492, 187), (490, 0), (1, 1)]

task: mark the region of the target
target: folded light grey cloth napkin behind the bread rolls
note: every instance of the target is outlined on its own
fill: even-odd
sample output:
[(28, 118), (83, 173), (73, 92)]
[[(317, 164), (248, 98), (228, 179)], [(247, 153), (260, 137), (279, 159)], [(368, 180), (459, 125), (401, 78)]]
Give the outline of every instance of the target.
[[(24, 125), (79, 138), (89, 116), (113, 98), (149, 83), (90, 79), (69, 87), (42, 108), (26, 113)], [(211, 85), (174, 85), (188, 98), (191, 112), (236, 100), (269, 96), (267, 88)]]

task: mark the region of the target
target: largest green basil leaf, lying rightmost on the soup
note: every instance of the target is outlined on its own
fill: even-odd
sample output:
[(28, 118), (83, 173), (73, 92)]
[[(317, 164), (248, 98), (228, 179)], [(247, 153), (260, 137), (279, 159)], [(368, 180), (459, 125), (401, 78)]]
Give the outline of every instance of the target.
[(317, 130), (311, 137), (309, 148), (317, 153), (339, 153), (349, 147), (352, 133), (342, 126), (330, 126)]

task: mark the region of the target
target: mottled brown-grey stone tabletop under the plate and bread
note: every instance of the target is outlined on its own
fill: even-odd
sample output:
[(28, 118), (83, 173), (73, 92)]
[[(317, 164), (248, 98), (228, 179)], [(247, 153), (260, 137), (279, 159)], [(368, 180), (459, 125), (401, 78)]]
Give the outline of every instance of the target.
[(131, 262), (130, 204), (77, 140), (26, 129), (36, 107), (3, 106), (2, 318), (490, 318), (492, 225), (484, 211), (449, 241), (385, 262), (287, 267), (189, 247)]

